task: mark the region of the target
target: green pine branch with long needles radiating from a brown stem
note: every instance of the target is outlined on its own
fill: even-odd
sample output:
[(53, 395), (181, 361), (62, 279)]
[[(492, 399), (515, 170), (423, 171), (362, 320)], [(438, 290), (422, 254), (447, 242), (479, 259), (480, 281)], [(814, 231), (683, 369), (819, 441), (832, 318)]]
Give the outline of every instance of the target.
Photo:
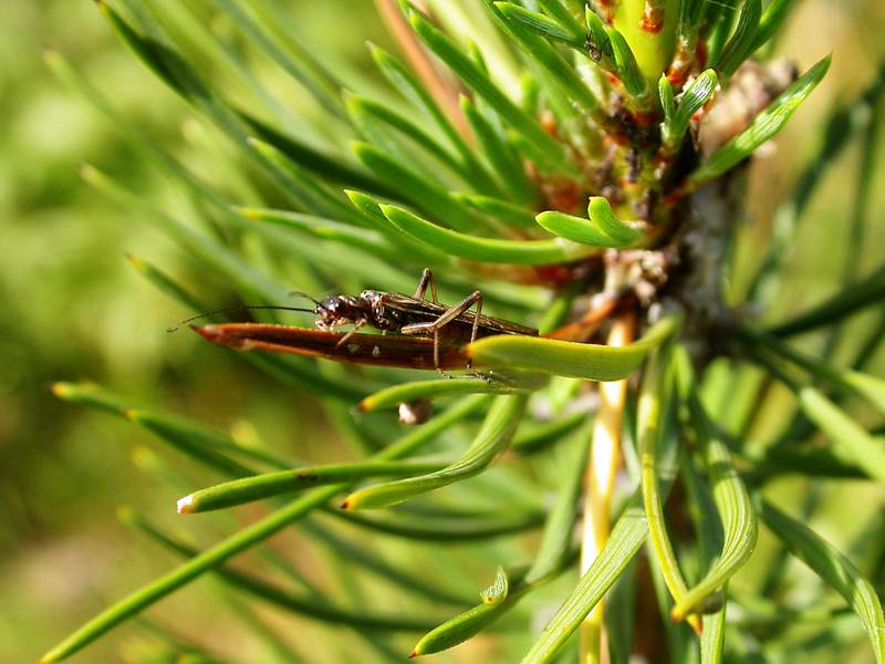
[[(861, 246), (885, 66), (831, 114), (754, 264), (733, 260), (752, 155), (830, 65), (824, 58), (798, 73), (773, 58), (796, 4), (377, 0), (398, 51), (368, 46), (382, 85), (310, 45), (278, 0), (98, 2), (122, 42), (217, 129), (231, 156), (219, 162), (222, 185), (196, 173), (129, 127), (111, 91), (51, 53), (53, 69), (180, 188), (192, 218), (96, 168), (84, 169), (85, 180), (149, 217), (259, 308), (248, 311), (257, 325), (220, 322), (244, 310), (214, 312), (198, 331), (246, 351), (242, 360), (283, 388), (316, 397), (353, 456), (316, 465), (94, 385), (58, 384), (60, 397), (124, 416), (206, 466), (215, 484), (183, 498), (179, 511), (258, 500), (266, 511), (195, 547), (124, 510), (124, 522), (184, 562), (43, 661), (80, 651), (211, 572), (280, 661), (398, 661), (489, 634), (493, 661), (579, 653), (582, 663), (627, 662), (634, 653), (715, 663), (751, 652), (832, 661), (865, 639), (885, 662), (874, 585), (882, 570), (858, 571), (766, 492), (787, 474), (885, 481), (882, 438), (856, 419), (862, 407), (885, 413), (885, 382), (865, 373), (885, 329), (885, 266), (870, 274), (846, 267), (836, 293), (798, 315), (766, 310), (827, 160), (858, 134), (866, 148), (850, 231)], [(233, 35), (207, 29), (216, 13)], [(295, 116), (246, 51), (291, 76), (315, 113)], [(220, 300), (132, 262), (195, 314)], [(395, 334), (341, 344), (335, 332), (305, 332), (309, 312), (261, 309), (319, 304), (303, 307), (303, 295), (292, 304), (292, 283), (313, 293), (410, 293), (427, 267), (441, 302), (478, 289), (483, 313), (541, 334), (444, 336), (444, 371), (458, 375), (416, 380), (408, 365), (417, 361), (403, 357), (433, 369), (430, 338), (413, 338), (407, 353)], [(863, 311), (877, 322), (846, 339), (843, 322)], [(292, 320), (299, 330), (269, 326)], [(820, 352), (798, 350), (803, 334), (820, 339)], [(334, 363), (373, 343), (365, 365)], [(836, 344), (846, 362), (834, 362)], [(376, 366), (388, 352), (393, 366)], [(778, 384), (794, 395), (794, 412), (760, 442), (753, 433)], [(354, 414), (357, 404), (366, 415)], [(395, 425), (397, 407), (420, 424)], [(176, 481), (159, 458), (148, 466)], [(760, 525), (778, 541), (773, 562), (760, 585), (732, 589)], [(326, 546), (317, 564), (353, 585), (353, 596), (323, 592), (267, 546), (292, 526)], [(881, 522), (870, 529), (882, 540)], [(532, 530), (540, 537), (524, 537)], [(373, 547), (391, 537), (395, 547)], [(448, 548), (455, 542), (467, 546)], [(248, 566), (228, 564), (247, 551), (256, 553)], [(806, 604), (783, 600), (789, 557), (823, 582)], [(494, 579), (471, 594), (476, 570)], [(284, 581), (267, 580), (268, 571)], [(384, 581), (369, 602), (354, 581), (367, 578)], [(341, 643), (283, 637), (251, 612), (253, 601), (334, 625)], [(554, 610), (539, 624), (543, 606)], [(846, 606), (856, 615), (836, 631)], [(795, 625), (802, 637), (790, 636)], [(210, 658), (204, 646), (163, 636), (194, 661)], [(656, 650), (664, 643), (666, 656)]]

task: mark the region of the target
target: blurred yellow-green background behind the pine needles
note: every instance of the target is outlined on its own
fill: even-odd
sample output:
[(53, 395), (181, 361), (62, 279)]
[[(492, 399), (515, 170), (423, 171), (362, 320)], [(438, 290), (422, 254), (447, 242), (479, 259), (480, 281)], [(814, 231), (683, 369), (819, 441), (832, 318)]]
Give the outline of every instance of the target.
[[(369, 68), (367, 39), (385, 41), (368, 0), (289, 4), (302, 34), (334, 44), (352, 66)], [(350, 15), (343, 21), (345, 8)], [(872, 77), (885, 56), (883, 31), (881, 0), (801, 2), (781, 40), (781, 51), (802, 69), (832, 51), (833, 69), (779, 139), (779, 149), (754, 165), (752, 218), (739, 257), (758, 252), (778, 200), (820, 141), (821, 122), (834, 100), (846, 98)], [(33, 661), (106, 600), (170, 564), (167, 556), (156, 556), (153, 547), (119, 526), (114, 512), (117, 505), (127, 504), (174, 521), (178, 496), (139, 473), (132, 461), (133, 449), (147, 444), (147, 436), (117, 419), (54, 400), (53, 381), (95, 381), (238, 435), (260, 432), (262, 438), (293, 445), (296, 439), (309, 440), (306, 450), (302, 444), (303, 456), (327, 458), (331, 454), (330, 434), (315, 419), (309, 396), (282, 392), (232, 353), (194, 335), (166, 334), (165, 329), (187, 312), (139, 278), (124, 252), (152, 260), (185, 282), (198, 284), (202, 292), (212, 292), (214, 284), (194, 271), (146, 219), (105, 201), (82, 184), (79, 168), (91, 163), (147, 197), (170, 196), (125, 138), (50, 74), (42, 59), (46, 48), (69, 58), (152, 141), (198, 165), (208, 179), (212, 167), (204, 147), (205, 128), (116, 41), (92, 2), (4, 3), (0, 21), (0, 662)], [(266, 62), (252, 64), (270, 69)], [(303, 105), (294, 89), (281, 96), (293, 107)], [(803, 218), (788, 266), (790, 281), (782, 291), (781, 314), (825, 295), (846, 259), (846, 216), (857, 148), (853, 145), (833, 165)], [(885, 246), (885, 225), (876, 222), (885, 204), (885, 169), (877, 170), (875, 183), (874, 224), (864, 256), (857, 257), (865, 267), (881, 261)], [(801, 289), (789, 288), (790, 283)], [(219, 292), (223, 292), (220, 286)], [(882, 373), (882, 357), (877, 366)], [(782, 490), (801, 494), (802, 487), (785, 483)], [(822, 518), (837, 517), (845, 505), (856, 505), (858, 496), (848, 485), (830, 498), (832, 507)], [(840, 523), (837, 518), (821, 526), (836, 542), (855, 535), (851, 523)], [(164, 602), (164, 619), (178, 623), (186, 633), (211, 631), (220, 651), (236, 643), (242, 660), (250, 661), (248, 639), (221, 629), (222, 614), (189, 611), (200, 602), (204, 608), (211, 602), (204, 592), (205, 583), (199, 583)], [(121, 652), (135, 647), (132, 632), (124, 629), (76, 661), (117, 661)], [(482, 661), (481, 649), (478, 653), (477, 661)]]

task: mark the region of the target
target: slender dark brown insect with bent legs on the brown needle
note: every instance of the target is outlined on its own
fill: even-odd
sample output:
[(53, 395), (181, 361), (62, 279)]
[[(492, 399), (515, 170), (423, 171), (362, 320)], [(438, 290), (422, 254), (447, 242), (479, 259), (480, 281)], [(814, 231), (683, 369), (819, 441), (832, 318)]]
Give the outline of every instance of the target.
[[(425, 299), (427, 289), (430, 298)], [(439, 347), (464, 345), (483, 336), (497, 334), (522, 334), (538, 336), (538, 330), (511, 321), (482, 315), (482, 293), (478, 290), (451, 307), (440, 304), (437, 299), (436, 282), (430, 268), (425, 268), (415, 294), (388, 293), (364, 290), (358, 295), (336, 295), (323, 301), (314, 301), (316, 326), (333, 330), (352, 324), (339, 344), (344, 344), (363, 326), (372, 326), (383, 333), (394, 332), (403, 335), (427, 336), (434, 340), (434, 366), (440, 371)], [(469, 311), (476, 305), (476, 313)], [(468, 363), (469, 369), (469, 363)]]

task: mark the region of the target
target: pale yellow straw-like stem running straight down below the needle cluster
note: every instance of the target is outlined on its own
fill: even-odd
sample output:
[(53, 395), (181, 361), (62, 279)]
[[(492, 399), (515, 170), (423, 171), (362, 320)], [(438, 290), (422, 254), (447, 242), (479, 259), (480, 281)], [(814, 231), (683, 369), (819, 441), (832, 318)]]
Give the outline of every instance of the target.
[[(635, 314), (617, 318), (608, 333), (608, 345), (625, 346), (636, 332)], [(581, 546), (581, 573), (596, 560), (611, 532), (612, 491), (621, 456), (621, 423), (627, 395), (627, 381), (600, 383), (600, 409), (593, 440), (584, 495), (584, 535)], [(581, 625), (581, 664), (608, 662), (603, 632), (603, 603), (591, 611)]]

